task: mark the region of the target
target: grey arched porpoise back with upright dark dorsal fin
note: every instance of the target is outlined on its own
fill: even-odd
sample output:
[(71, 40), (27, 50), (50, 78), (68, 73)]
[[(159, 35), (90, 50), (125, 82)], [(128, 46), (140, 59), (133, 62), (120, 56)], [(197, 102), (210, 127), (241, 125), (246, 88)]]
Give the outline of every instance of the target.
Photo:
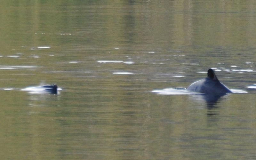
[(188, 91), (199, 92), (205, 94), (226, 94), (232, 93), (228, 87), (220, 83), (217, 76), (215, 75), (212, 69), (209, 69), (207, 72), (207, 77), (196, 81), (188, 86)]

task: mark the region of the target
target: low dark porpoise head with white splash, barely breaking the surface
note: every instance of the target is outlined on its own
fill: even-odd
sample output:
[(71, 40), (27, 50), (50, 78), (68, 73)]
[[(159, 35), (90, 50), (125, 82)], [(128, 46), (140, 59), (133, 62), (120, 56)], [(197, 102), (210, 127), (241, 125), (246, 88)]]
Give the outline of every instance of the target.
[(47, 92), (51, 94), (57, 94), (58, 86), (56, 84), (53, 85), (42, 85), (42, 86), (35, 86), (35, 87), (27, 87), (24, 89), (21, 89), (21, 91), (32, 91), (32, 92)]

